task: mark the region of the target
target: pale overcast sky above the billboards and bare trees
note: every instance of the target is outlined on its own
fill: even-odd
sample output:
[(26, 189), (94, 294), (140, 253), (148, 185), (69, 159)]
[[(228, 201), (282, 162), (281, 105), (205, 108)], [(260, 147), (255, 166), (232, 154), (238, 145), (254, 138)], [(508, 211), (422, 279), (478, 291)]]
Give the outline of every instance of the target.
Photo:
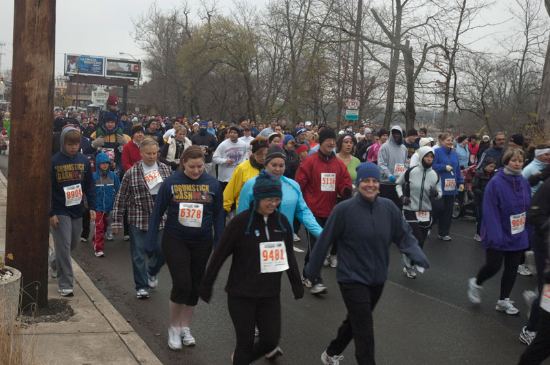
[[(256, 6), (265, 6), (268, 0), (254, 0)], [(542, 0), (541, 0), (542, 1)], [(5, 43), (1, 53), (0, 73), (12, 68), (13, 57), (13, 0), (1, 0), (0, 43)], [(159, 8), (167, 9), (177, 4), (177, 0), (158, 0)], [(196, 7), (199, 0), (189, 0)], [(219, 10), (228, 13), (232, 0), (217, 0)], [(491, 10), (481, 14), (481, 19), (497, 22), (509, 18), (506, 11), (514, 0), (498, 0)], [(83, 54), (90, 56), (120, 57), (119, 52), (144, 58), (144, 52), (134, 43), (131, 36), (131, 19), (145, 13), (151, 1), (146, 0), (58, 0), (56, 14), (56, 60), (55, 74), (63, 74), (63, 54)], [(544, 6), (542, 6), (544, 12)], [(480, 19), (480, 21), (481, 21)], [(509, 25), (484, 30), (503, 34)], [(480, 48), (488, 47), (481, 43)], [(123, 56), (127, 57), (127, 56)]]

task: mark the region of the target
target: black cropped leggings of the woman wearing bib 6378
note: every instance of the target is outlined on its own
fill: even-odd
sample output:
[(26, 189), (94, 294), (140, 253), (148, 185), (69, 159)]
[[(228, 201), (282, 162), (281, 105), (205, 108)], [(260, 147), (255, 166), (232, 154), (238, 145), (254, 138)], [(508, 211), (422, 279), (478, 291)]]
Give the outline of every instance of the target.
[(170, 233), (162, 234), (162, 255), (172, 278), (170, 301), (195, 306), (199, 302), (199, 285), (212, 252), (212, 242), (188, 244)]

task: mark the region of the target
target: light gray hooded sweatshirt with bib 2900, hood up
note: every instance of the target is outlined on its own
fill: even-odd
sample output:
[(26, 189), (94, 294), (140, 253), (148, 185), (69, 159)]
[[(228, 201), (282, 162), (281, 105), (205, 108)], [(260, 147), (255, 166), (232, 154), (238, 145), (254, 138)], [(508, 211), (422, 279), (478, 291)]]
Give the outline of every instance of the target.
[[(399, 130), (403, 134), (401, 127), (393, 126), (388, 141), (380, 146), (380, 150), (378, 150), (378, 167), (380, 168), (380, 183), (382, 184), (395, 184), (395, 180), (405, 173), (407, 148), (403, 145), (403, 139), (401, 139), (401, 143), (397, 143), (393, 139), (394, 130)], [(395, 177), (395, 179), (392, 179), (393, 181), (391, 181), (391, 176)]]

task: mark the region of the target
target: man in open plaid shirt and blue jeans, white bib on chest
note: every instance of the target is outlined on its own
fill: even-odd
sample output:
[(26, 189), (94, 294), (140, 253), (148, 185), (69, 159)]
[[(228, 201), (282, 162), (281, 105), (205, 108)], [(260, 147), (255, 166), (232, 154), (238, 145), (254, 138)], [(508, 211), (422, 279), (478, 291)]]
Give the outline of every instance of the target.
[(162, 218), (159, 226), (157, 249), (149, 258), (148, 266), (145, 265), (145, 238), (149, 217), (153, 211), (153, 202), (160, 185), (171, 174), (170, 167), (157, 162), (158, 150), (158, 143), (154, 139), (144, 139), (140, 143), (142, 161), (135, 163), (124, 174), (113, 209), (114, 234), (122, 228), (122, 215), (124, 211), (128, 211), (133, 280), (138, 299), (149, 297), (147, 290), (157, 286), (157, 274), (164, 265), (160, 242), (166, 216)]

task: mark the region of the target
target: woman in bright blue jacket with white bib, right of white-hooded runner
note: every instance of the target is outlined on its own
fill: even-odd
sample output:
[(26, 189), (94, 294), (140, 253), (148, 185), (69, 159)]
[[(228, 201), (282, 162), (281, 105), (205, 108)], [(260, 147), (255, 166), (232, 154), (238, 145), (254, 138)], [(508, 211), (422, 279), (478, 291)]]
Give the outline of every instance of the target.
[(433, 169), (441, 176), (441, 190), (443, 199), (436, 204), (434, 217), (439, 217), (437, 225), (437, 239), (450, 241), (449, 231), (452, 221), (452, 207), (454, 198), (459, 191), (464, 191), (464, 179), (460, 169), (459, 156), (452, 149), (452, 136), (450, 133), (441, 135), (441, 147), (434, 152)]

